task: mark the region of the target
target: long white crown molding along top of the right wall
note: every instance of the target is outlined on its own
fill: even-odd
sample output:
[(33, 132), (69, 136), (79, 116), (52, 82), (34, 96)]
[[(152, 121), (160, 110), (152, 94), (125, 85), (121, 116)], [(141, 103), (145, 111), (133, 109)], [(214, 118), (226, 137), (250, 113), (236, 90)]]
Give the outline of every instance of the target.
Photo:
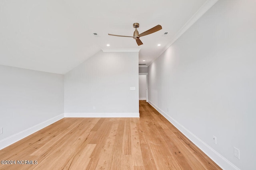
[[(197, 11), (196, 13), (181, 27), (181, 29), (174, 35), (174, 37), (171, 39), (170, 43), (168, 43), (164, 47), (164, 53), (184, 32), (186, 32), (201, 16), (204, 15), (212, 6), (217, 2), (218, 0), (207, 0)], [(160, 53), (158, 57), (162, 54)], [(156, 57), (156, 59), (158, 58)], [(151, 61), (150, 64), (152, 64), (156, 59)]]

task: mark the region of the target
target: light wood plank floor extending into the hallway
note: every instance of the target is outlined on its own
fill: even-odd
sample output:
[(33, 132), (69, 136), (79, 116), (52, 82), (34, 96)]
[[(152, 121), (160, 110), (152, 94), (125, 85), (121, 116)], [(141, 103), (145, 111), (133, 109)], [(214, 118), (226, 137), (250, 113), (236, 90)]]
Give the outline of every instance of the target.
[(0, 150), (6, 170), (221, 169), (145, 101), (140, 118), (64, 118)]

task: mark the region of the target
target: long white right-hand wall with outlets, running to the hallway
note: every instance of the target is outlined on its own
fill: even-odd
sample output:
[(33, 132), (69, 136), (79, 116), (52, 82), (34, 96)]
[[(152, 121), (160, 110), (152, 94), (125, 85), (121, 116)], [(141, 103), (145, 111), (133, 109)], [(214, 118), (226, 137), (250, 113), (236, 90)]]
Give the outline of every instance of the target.
[(218, 1), (148, 67), (150, 103), (224, 169), (256, 169), (255, 6)]

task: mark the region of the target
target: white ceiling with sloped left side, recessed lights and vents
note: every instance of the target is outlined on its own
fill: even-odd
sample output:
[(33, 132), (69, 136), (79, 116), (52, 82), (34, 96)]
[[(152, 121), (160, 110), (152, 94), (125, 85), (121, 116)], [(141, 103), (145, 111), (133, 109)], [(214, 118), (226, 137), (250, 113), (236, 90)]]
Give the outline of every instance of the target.
[[(65, 74), (101, 49), (108, 48), (139, 48), (139, 63), (150, 64), (182, 30), (184, 32), (188, 21), (210, 4), (209, 1), (216, 2), (0, 0), (0, 64)], [(140, 46), (130, 37), (108, 35), (132, 36), (134, 22), (140, 23), (139, 33), (158, 24), (163, 29), (141, 37), (144, 44)], [(169, 34), (163, 36), (164, 32)], [(98, 33), (98, 37), (93, 33)]]

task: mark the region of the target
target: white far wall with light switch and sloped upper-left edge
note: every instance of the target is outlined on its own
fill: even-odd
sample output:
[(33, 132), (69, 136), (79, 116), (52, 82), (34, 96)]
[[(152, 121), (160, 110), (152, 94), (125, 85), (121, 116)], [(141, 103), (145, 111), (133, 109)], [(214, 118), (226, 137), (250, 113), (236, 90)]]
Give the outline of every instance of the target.
[(65, 74), (65, 116), (139, 117), (138, 79), (138, 52), (99, 51)]

